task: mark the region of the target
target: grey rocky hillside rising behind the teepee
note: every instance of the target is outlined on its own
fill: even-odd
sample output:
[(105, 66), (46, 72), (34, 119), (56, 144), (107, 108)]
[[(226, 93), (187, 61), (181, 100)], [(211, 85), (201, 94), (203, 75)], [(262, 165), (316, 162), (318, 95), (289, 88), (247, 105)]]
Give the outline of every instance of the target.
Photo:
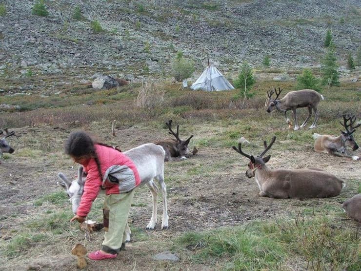
[(318, 66), (327, 29), (341, 65), (361, 45), (360, 0), (45, 0), (46, 17), (32, 14), (34, 3), (0, 1), (1, 77), (169, 78), (178, 50), (195, 62), (194, 77), (207, 53), (226, 74), (265, 55), (273, 68)]

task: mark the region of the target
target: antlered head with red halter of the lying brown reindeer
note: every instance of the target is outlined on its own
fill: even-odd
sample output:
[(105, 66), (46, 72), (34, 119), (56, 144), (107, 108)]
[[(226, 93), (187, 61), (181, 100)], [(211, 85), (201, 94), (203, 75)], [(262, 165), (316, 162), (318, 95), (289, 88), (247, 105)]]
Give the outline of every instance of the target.
[(264, 150), (262, 151), (262, 153), (258, 156), (253, 156), (253, 155), (249, 155), (246, 154), (242, 151), (241, 149), (241, 143), (238, 144), (238, 148), (236, 146), (233, 146), (232, 148), (237, 151), (238, 153), (240, 153), (241, 155), (247, 157), (249, 160), (251, 160), (248, 163), (248, 169), (246, 170), (246, 176), (248, 178), (252, 178), (255, 176), (255, 171), (257, 169), (261, 169), (262, 167), (265, 166), (265, 164), (269, 161), (269, 159), (271, 158), (271, 155), (268, 155), (266, 157), (262, 157), (273, 145), (273, 143), (275, 143), (276, 140), (276, 136), (272, 137), (271, 143), (267, 146), (267, 142), (263, 141), (263, 145), (264, 145)]

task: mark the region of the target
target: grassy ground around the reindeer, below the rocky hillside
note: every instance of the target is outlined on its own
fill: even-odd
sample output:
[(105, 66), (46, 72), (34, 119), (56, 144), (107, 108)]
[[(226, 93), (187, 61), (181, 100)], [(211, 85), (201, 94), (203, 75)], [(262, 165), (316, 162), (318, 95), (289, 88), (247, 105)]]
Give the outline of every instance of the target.
[[(1, 80), (5, 90), (16, 84)], [(243, 106), (233, 99), (236, 91), (194, 92), (174, 83), (161, 85), (164, 101), (151, 109), (135, 105), (140, 84), (95, 91), (74, 83), (60, 86), (56, 95), (0, 96), (1, 104), (20, 106), (0, 118), (0, 127), (17, 134), (8, 138), (16, 152), (4, 154), (0, 167), (2, 269), (76, 270), (73, 245), (99, 249), (102, 233), (85, 235), (69, 223), (70, 204), (56, 185), (59, 171), (76, 174), (76, 165), (62, 150), (71, 131), (85, 129), (125, 150), (167, 137), (165, 121), (172, 119), (180, 124), (181, 138), (195, 135), (190, 147), (200, 151), (188, 160), (166, 163), (169, 229), (145, 230), (151, 198), (146, 188), (139, 188), (129, 217), (132, 242), (113, 261), (88, 261), (87, 270), (360, 270), (360, 227), (341, 210), (345, 199), (361, 192), (360, 162), (315, 153), (312, 134), (338, 135), (343, 113), (360, 119), (361, 83), (343, 80), (340, 87), (323, 90), (317, 127), (299, 131), (289, 130), (281, 113), (265, 112), (266, 90), (279, 86), (286, 93), (294, 90), (295, 81), (276, 84), (263, 78)], [(301, 123), (307, 110), (299, 111)], [(322, 167), (344, 179), (346, 188), (330, 199), (258, 196), (255, 180), (244, 176), (246, 159), (231, 147), (243, 136), (251, 142), (246, 152), (257, 155), (262, 141), (273, 135), (271, 167)], [(359, 131), (355, 139), (361, 142)], [(101, 220), (102, 202), (100, 195), (92, 220)], [(165, 250), (180, 260), (152, 258)]]

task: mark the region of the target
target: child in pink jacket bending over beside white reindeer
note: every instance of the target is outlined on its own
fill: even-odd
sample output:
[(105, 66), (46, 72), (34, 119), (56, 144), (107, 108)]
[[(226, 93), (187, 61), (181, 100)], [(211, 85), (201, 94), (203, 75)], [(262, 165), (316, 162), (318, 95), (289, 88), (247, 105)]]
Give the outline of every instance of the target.
[[(88, 257), (92, 260), (115, 258), (117, 253), (125, 247), (124, 229), (134, 196), (134, 188), (140, 184), (138, 170), (130, 158), (120, 150), (94, 142), (87, 133), (82, 131), (70, 134), (65, 143), (65, 153), (70, 155), (74, 162), (82, 165), (86, 173), (80, 206), (70, 221), (84, 222), (100, 188), (105, 189), (104, 241), (101, 249), (89, 253)], [(118, 180), (108, 175), (114, 167), (121, 172), (121, 177), (117, 175)]]

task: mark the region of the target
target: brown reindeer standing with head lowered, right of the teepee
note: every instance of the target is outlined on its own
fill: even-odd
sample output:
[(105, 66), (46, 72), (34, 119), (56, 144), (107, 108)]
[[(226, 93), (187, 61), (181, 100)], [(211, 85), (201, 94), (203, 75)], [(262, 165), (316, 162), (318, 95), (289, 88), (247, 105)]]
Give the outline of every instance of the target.
[[(277, 92), (277, 89), (274, 88), (273, 90), (267, 91), (268, 99), (266, 101), (266, 104), (269, 104), (267, 107), (267, 112), (270, 113), (274, 110), (279, 110), (284, 113), (284, 117), (286, 118), (286, 122), (289, 124), (290, 120), (287, 118), (287, 111), (292, 110), (293, 117), (295, 119), (295, 128), (294, 130), (298, 130), (299, 128), (302, 128), (306, 126), (308, 120), (311, 117), (312, 109), (315, 112), (315, 121), (313, 124), (309, 127), (310, 129), (315, 128), (316, 122), (319, 119), (320, 113), (317, 109), (317, 105), (320, 103), (321, 99), (323, 100), (323, 96), (318, 93), (315, 90), (312, 89), (302, 89), (297, 91), (290, 91), (288, 92), (282, 99), (277, 100), (277, 98), (280, 96), (282, 89), (278, 88), (279, 91)], [(276, 93), (276, 98), (272, 99), (272, 95)], [(267, 105), (266, 105), (267, 106)], [(301, 126), (297, 123), (297, 108), (300, 107), (307, 107), (308, 108), (308, 116), (306, 120), (302, 123)]]

